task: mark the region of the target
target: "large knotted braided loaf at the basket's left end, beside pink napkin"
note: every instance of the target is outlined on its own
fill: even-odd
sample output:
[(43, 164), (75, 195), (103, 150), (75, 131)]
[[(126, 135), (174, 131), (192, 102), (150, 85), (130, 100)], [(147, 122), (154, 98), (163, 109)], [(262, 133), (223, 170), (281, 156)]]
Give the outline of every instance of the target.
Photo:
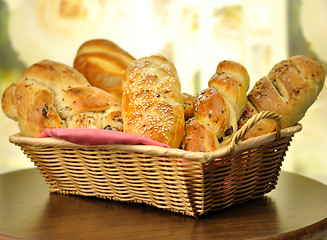
[(4, 113), (18, 121), (21, 133), (29, 137), (37, 137), (45, 128), (112, 125), (122, 131), (121, 119), (113, 116), (115, 111), (120, 114), (120, 105), (120, 99), (90, 86), (77, 70), (49, 60), (27, 68), (2, 96)]

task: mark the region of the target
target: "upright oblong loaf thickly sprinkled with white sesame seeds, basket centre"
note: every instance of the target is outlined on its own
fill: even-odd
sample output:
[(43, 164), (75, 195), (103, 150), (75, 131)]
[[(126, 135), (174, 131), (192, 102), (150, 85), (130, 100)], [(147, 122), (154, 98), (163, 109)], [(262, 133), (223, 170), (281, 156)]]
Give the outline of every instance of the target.
[(176, 69), (162, 56), (134, 61), (123, 77), (124, 132), (151, 138), (173, 148), (183, 139), (183, 96)]

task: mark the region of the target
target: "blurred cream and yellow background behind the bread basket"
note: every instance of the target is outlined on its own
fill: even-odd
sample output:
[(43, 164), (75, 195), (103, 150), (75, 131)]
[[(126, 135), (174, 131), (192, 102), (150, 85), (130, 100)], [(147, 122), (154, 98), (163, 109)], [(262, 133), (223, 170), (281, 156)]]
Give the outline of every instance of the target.
[[(251, 88), (273, 65), (303, 54), (327, 63), (325, 0), (0, 0), (0, 93), (42, 59), (72, 66), (93, 38), (136, 58), (162, 54), (183, 92), (207, 87), (221, 60), (242, 63)], [(301, 121), (283, 170), (327, 183), (327, 84)], [(250, 89), (251, 89), (250, 88)], [(0, 173), (33, 167), (8, 137), (17, 123), (0, 112)]]

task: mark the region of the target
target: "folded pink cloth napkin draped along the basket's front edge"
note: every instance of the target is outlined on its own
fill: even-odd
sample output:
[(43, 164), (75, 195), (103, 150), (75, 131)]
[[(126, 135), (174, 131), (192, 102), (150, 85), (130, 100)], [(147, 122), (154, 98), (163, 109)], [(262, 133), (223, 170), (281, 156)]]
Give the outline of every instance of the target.
[(152, 140), (150, 138), (141, 137), (131, 133), (104, 129), (46, 128), (38, 137), (55, 137), (80, 145), (141, 144), (170, 148), (167, 144)]

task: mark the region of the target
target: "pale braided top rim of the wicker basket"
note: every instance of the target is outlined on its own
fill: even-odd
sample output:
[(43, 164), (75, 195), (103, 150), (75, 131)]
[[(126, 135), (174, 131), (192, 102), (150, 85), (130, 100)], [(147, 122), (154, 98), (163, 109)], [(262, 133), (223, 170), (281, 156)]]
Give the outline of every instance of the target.
[[(291, 127), (284, 128), (280, 131), (280, 138), (290, 137), (294, 133), (301, 131), (302, 125), (296, 124)], [(9, 136), (9, 141), (15, 145), (29, 145), (34, 147), (59, 147), (59, 148), (101, 148), (101, 149), (115, 149), (122, 151), (135, 151), (150, 155), (165, 155), (167, 157), (184, 158), (189, 160), (197, 160), (206, 163), (209, 160), (227, 156), (231, 153), (239, 153), (248, 149), (258, 147), (262, 144), (275, 141), (276, 133), (269, 133), (258, 137), (253, 137), (244, 141), (230, 143), (220, 149), (212, 152), (191, 152), (177, 148), (164, 148), (151, 145), (79, 145), (58, 139), (54, 137), (47, 138), (33, 138), (22, 136), (21, 133), (16, 133)]]

